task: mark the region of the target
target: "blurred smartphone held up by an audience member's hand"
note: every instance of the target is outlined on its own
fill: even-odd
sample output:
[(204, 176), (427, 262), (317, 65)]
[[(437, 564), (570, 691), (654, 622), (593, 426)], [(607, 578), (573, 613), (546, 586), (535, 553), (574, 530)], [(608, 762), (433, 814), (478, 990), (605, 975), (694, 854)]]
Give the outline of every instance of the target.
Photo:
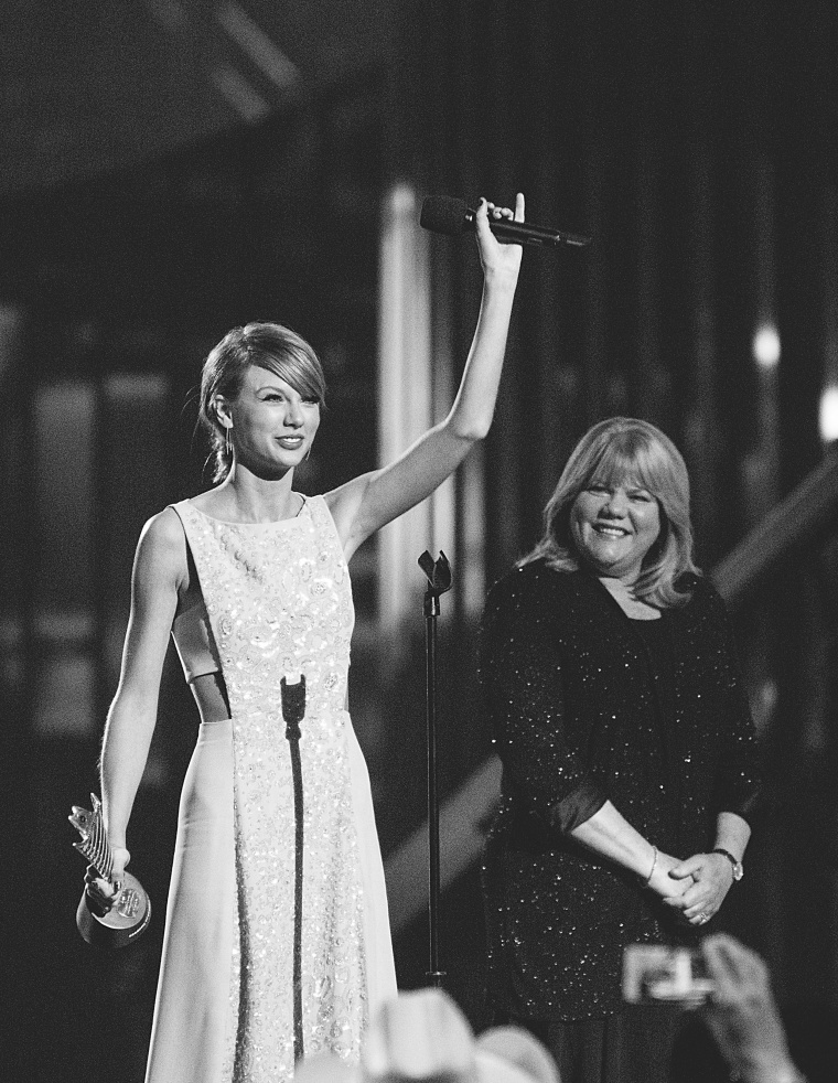
[(623, 999), (628, 1004), (697, 1007), (712, 988), (703, 957), (696, 948), (630, 944), (623, 952)]

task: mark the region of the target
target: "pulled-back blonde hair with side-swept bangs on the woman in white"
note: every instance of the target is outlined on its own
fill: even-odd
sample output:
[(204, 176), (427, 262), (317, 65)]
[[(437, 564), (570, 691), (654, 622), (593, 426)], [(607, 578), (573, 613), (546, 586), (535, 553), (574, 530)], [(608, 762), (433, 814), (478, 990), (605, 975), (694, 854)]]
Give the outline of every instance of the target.
[(210, 436), (216, 482), (229, 473), (233, 454), (227, 447), (227, 430), (216, 412), (215, 397), (235, 399), (251, 365), (279, 376), (303, 398), (325, 405), (326, 382), (320, 358), (299, 334), (280, 323), (248, 323), (228, 331), (207, 354), (201, 375), (198, 420)]

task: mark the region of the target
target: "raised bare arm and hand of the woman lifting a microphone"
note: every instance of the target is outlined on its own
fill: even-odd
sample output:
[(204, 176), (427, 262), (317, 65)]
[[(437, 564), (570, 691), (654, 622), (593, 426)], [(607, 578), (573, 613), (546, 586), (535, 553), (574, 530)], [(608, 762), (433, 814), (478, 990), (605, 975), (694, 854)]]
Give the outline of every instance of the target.
[[(512, 216), (485, 200), (477, 210), (477, 246), (483, 265), (483, 299), (454, 405), (395, 462), (347, 482), (327, 496), (347, 558), (362, 542), (429, 496), (463, 461), (492, 425), (506, 335), (520, 268), (519, 245), (502, 245), (488, 215)], [(524, 196), (515, 202), (524, 221)]]

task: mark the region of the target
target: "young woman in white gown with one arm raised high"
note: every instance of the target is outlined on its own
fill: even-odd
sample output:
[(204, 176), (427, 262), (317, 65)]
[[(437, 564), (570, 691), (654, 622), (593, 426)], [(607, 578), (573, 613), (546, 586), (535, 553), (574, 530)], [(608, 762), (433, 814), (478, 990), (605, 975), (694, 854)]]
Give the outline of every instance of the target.
[[(322, 496), (294, 491), (324, 384), (311, 347), (287, 329), (237, 328), (204, 365), (201, 415), (219, 484), (143, 528), (101, 755), (118, 877), (171, 633), (201, 726), (147, 1083), (280, 1083), (322, 1051), (354, 1063), (370, 1014), (395, 995), (369, 782), (346, 711), (347, 562), (488, 431), (520, 265), (490, 214), (513, 216), (485, 202), (477, 212), (483, 300), (455, 401), (384, 469)], [(520, 195), (514, 216), (524, 216)], [(302, 677), (296, 729), (286, 716)], [(112, 902), (105, 881), (88, 890)]]

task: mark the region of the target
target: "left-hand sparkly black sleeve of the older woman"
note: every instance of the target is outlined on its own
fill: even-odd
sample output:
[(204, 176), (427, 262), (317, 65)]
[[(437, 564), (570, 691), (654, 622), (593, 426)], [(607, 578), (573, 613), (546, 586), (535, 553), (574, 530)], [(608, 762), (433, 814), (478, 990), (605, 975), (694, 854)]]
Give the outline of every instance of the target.
[(606, 794), (568, 746), (557, 607), (544, 579), (525, 568), (490, 593), (480, 682), (505, 783), (551, 828), (568, 833), (601, 808)]

